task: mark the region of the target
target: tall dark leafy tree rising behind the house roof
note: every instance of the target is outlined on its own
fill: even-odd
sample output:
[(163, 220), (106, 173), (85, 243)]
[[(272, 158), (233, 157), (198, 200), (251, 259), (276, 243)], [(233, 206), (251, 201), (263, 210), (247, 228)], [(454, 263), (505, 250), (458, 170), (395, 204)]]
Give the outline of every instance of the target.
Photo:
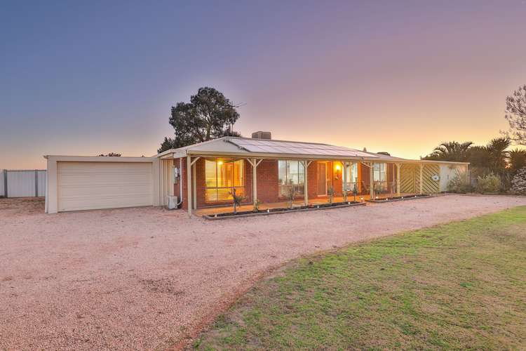
[(199, 88), (196, 95), (191, 95), (190, 102), (177, 102), (172, 107), (170, 125), (175, 129), (175, 136), (164, 138), (158, 152), (227, 135), (240, 136), (231, 131), (239, 118), (236, 107), (215, 88)]

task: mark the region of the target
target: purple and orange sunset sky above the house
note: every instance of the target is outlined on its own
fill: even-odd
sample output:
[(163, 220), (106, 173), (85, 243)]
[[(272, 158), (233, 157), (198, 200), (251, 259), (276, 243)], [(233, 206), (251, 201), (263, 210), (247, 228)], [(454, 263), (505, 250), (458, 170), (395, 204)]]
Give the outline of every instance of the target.
[(485, 144), (526, 84), (526, 1), (1, 1), (0, 168), (156, 154), (201, 86), (234, 130), (418, 158)]

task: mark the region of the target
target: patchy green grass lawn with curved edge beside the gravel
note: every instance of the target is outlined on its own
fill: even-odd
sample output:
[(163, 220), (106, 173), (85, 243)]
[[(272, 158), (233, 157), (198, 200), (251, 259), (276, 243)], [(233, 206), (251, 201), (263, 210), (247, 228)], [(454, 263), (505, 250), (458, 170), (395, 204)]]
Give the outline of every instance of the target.
[(524, 349), (526, 207), (297, 260), (194, 347)]

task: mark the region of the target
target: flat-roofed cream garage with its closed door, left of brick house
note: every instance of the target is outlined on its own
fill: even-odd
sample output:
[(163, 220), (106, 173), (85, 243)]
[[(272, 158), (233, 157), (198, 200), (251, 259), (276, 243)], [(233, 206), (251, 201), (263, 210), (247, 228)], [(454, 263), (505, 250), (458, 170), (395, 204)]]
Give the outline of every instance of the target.
[(154, 206), (154, 164), (150, 157), (48, 157), (46, 209)]

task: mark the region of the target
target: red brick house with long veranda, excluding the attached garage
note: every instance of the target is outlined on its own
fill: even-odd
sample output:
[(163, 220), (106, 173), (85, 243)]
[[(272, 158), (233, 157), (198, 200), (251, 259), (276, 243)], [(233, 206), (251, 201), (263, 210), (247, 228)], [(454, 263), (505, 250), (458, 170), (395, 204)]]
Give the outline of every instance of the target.
[[(445, 191), (453, 172), (467, 164), (392, 157), (318, 143), (272, 140), (270, 133), (252, 138), (224, 137), (158, 154), (160, 189), (175, 196), (179, 206), (192, 209), (230, 206), (232, 193), (245, 204), (295, 199), (379, 197)], [(447, 174), (446, 174), (447, 173)]]

